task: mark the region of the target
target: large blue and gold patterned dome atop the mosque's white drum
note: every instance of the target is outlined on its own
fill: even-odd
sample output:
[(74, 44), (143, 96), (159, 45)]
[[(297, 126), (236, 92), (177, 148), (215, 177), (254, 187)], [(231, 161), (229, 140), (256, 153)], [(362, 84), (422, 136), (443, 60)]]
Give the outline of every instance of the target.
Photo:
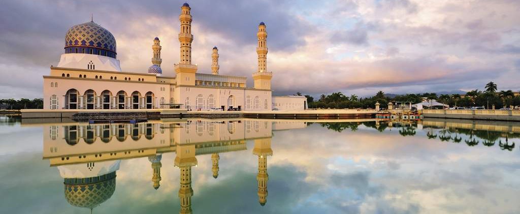
[(65, 53), (87, 53), (116, 58), (115, 38), (94, 21), (72, 26), (65, 36)]

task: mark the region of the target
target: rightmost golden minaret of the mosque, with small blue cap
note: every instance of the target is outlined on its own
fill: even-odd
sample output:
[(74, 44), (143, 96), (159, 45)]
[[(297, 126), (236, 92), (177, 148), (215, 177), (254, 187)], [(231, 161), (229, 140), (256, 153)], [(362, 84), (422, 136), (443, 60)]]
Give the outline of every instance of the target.
[(258, 69), (256, 73), (253, 73), (254, 87), (270, 90), (272, 73), (267, 71), (267, 32), (265, 31), (264, 22), (260, 22), (258, 25), (256, 37), (258, 37), (258, 47), (256, 47)]

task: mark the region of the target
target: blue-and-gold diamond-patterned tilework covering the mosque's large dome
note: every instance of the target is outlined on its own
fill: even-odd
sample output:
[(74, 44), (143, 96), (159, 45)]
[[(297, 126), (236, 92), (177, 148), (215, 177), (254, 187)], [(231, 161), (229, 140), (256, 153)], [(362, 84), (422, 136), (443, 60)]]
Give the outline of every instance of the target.
[(67, 31), (65, 48), (68, 47), (94, 47), (116, 53), (112, 33), (93, 21), (74, 25)]

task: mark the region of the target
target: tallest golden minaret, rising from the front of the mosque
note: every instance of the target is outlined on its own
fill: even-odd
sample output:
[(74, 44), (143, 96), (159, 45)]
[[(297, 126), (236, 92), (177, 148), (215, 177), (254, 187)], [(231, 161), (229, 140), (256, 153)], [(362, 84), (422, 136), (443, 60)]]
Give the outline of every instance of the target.
[(195, 85), (195, 73), (197, 73), (197, 65), (191, 64), (191, 42), (193, 35), (191, 34), (190, 5), (184, 3), (180, 7), (180, 62), (175, 64), (175, 74), (177, 85)]

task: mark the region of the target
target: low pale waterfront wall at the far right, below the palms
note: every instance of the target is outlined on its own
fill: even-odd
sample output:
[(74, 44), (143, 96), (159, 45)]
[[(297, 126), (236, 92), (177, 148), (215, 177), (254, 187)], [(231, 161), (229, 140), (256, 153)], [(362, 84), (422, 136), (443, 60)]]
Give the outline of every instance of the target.
[(423, 110), (425, 118), (484, 119), (489, 121), (520, 121), (520, 110)]

